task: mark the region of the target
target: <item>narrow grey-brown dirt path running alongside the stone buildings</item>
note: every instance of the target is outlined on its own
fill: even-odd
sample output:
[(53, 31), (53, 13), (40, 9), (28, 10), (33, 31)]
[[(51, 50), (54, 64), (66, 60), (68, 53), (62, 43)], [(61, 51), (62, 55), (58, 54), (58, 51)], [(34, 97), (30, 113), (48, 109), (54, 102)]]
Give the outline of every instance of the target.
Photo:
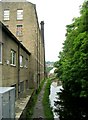
[(34, 112), (33, 112), (33, 115), (32, 115), (32, 119), (34, 119), (34, 118), (40, 118), (40, 119), (45, 118), (43, 105), (42, 105), (42, 99), (43, 99), (45, 86), (46, 86), (46, 82), (44, 83), (44, 85), (42, 87), (42, 90), (38, 95), (37, 102), (36, 102), (36, 105), (34, 107)]

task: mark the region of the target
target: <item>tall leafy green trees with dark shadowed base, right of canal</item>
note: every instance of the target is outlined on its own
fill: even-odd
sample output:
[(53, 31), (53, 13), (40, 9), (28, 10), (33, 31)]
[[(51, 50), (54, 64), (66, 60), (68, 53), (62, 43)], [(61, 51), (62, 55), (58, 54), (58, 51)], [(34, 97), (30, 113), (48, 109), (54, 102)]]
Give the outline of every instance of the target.
[[(80, 7), (80, 17), (67, 25), (63, 51), (59, 54), (57, 77), (63, 91), (56, 101), (60, 120), (88, 119), (88, 1)], [(60, 107), (59, 105), (60, 104)]]

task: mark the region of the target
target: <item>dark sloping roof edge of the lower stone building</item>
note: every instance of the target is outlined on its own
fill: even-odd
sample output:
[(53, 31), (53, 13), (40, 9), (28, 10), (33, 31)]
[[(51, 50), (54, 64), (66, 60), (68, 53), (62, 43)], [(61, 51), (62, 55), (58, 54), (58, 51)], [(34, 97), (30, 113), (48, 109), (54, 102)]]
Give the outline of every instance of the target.
[(10, 36), (18, 45), (21, 46), (21, 48), (23, 48), (29, 55), (31, 55), (31, 53), (23, 46), (23, 44), (21, 44), (21, 42), (12, 34), (12, 32), (1, 21), (0, 21), (0, 29), (5, 31), (5, 33), (7, 33), (8, 36)]

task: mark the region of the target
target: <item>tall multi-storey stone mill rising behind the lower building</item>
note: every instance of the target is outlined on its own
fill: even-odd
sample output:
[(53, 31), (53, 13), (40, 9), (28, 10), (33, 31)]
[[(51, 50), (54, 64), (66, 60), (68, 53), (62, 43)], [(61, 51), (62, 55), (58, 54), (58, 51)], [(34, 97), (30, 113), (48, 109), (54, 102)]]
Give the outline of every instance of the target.
[[(0, 2), (0, 20), (31, 53), (29, 66), (30, 87), (37, 89), (40, 80), (44, 79), (45, 47), (44, 22), (41, 22), (41, 28), (43, 28), (41, 32), (36, 5), (25, 0), (2, 0)], [(19, 79), (19, 81), (21, 80), (22, 78)]]

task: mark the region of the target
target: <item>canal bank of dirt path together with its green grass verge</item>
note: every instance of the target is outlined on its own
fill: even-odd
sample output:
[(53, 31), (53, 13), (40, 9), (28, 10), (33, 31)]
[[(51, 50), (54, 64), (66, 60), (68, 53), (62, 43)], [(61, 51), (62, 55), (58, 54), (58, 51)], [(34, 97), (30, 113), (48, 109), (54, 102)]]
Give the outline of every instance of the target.
[(41, 92), (38, 94), (37, 102), (34, 106), (33, 115), (31, 119), (37, 118), (54, 120), (49, 101), (50, 84), (51, 79), (46, 79)]

